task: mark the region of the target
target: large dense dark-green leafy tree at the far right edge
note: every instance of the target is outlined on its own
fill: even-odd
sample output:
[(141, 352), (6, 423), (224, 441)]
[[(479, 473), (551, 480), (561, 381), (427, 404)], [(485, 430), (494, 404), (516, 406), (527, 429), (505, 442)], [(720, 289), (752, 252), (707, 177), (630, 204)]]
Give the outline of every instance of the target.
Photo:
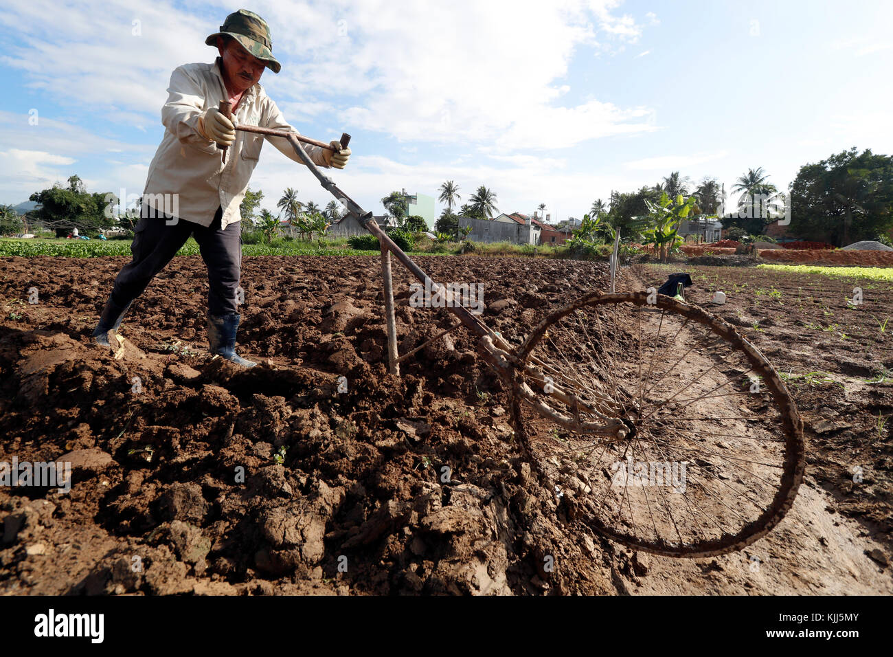
[(837, 246), (893, 228), (893, 156), (855, 147), (800, 167), (791, 184), (790, 232)]

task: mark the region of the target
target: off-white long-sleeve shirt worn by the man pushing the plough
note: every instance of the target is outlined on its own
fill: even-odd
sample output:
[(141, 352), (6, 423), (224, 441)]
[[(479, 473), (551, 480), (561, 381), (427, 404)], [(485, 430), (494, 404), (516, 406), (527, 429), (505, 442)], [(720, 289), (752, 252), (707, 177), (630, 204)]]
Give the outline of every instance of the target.
[[(149, 165), (143, 192), (145, 205), (203, 226), (211, 225), (220, 206), (223, 208), (221, 228), (226, 228), (230, 223), (241, 221), (238, 206), (245, 198), (263, 139), (301, 162), (284, 137), (236, 131), (236, 140), (223, 164), (222, 151), (215, 142), (199, 134), (197, 122), (199, 114), (219, 106), (225, 99), (220, 57), (214, 63), (188, 63), (174, 69), (168, 100), (162, 107), (164, 137)], [(233, 121), (296, 132), (260, 84), (246, 89)], [(326, 166), (321, 147), (305, 144), (304, 148), (315, 164)]]

